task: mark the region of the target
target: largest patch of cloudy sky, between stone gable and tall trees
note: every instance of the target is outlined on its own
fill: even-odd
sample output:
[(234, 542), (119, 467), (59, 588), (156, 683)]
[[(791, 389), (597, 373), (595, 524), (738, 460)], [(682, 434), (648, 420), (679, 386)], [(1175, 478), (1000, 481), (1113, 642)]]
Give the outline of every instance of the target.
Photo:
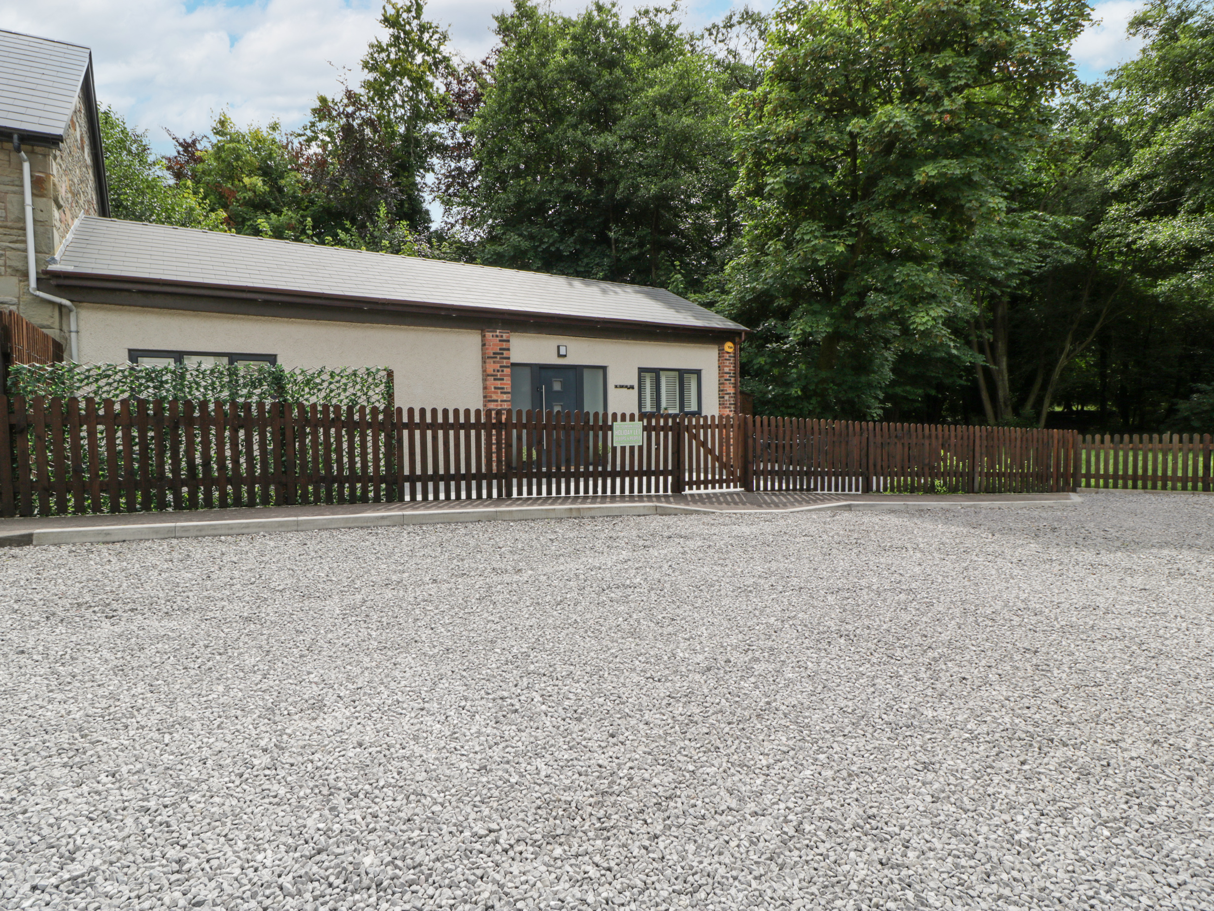
[(0, 0), (16, 32), (92, 49), (97, 95), (165, 136), (205, 131), (231, 106), (240, 121), (295, 125), (317, 92), (336, 85), (330, 66), (354, 67), (375, 34), (378, 8), (342, 0), (267, 0), (249, 6), (166, 0)]

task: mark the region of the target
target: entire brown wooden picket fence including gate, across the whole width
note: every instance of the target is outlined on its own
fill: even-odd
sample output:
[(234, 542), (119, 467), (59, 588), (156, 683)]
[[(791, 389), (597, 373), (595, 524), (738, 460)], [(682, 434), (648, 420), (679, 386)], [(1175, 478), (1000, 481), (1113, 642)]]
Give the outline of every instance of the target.
[[(0, 395), (0, 516), (692, 490), (1210, 490), (1210, 437)], [(612, 427), (642, 425), (641, 445)]]

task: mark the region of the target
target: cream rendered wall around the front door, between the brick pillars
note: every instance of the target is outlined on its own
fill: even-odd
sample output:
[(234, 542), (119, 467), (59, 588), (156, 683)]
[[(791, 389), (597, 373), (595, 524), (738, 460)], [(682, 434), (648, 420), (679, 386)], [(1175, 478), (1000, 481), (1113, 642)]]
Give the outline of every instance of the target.
[[(568, 346), (567, 358), (557, 359), (557, 345)], [(716, 342), (625, 342), (511, 332), (510, 360), (515, 364), (606, 366), (607, 410), (622, 412), (637, 410), (637, 391), (617, 389), (615, 386), (635, 387), (640, 368), (700, 370), (702, 410), (704, 414), (717, 411)]]

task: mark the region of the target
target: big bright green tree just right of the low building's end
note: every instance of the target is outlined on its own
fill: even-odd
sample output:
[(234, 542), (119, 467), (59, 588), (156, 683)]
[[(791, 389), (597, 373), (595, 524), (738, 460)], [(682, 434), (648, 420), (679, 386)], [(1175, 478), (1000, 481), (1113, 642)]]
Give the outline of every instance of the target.
[(777, 11), (765, 80), (736, 99), (748, 226), (727, 302), (756, 330), (762, 408), (875, 417), (900, 360), (975, 359), (965, 251), (1005, 217), (1087, 17), (1077, 0)]

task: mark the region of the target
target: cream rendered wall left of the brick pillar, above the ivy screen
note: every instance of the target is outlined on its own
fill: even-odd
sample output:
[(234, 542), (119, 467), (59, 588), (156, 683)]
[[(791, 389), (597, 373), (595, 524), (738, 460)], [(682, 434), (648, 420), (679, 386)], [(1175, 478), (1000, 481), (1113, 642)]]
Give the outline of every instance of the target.
[(76, 306), (85, 364), (125, 363), (127, 348), (277, 354), (287, 368), (391, 368), (396, 404), (405, 408), (481, 408), (481, 334), (475, 329)]

